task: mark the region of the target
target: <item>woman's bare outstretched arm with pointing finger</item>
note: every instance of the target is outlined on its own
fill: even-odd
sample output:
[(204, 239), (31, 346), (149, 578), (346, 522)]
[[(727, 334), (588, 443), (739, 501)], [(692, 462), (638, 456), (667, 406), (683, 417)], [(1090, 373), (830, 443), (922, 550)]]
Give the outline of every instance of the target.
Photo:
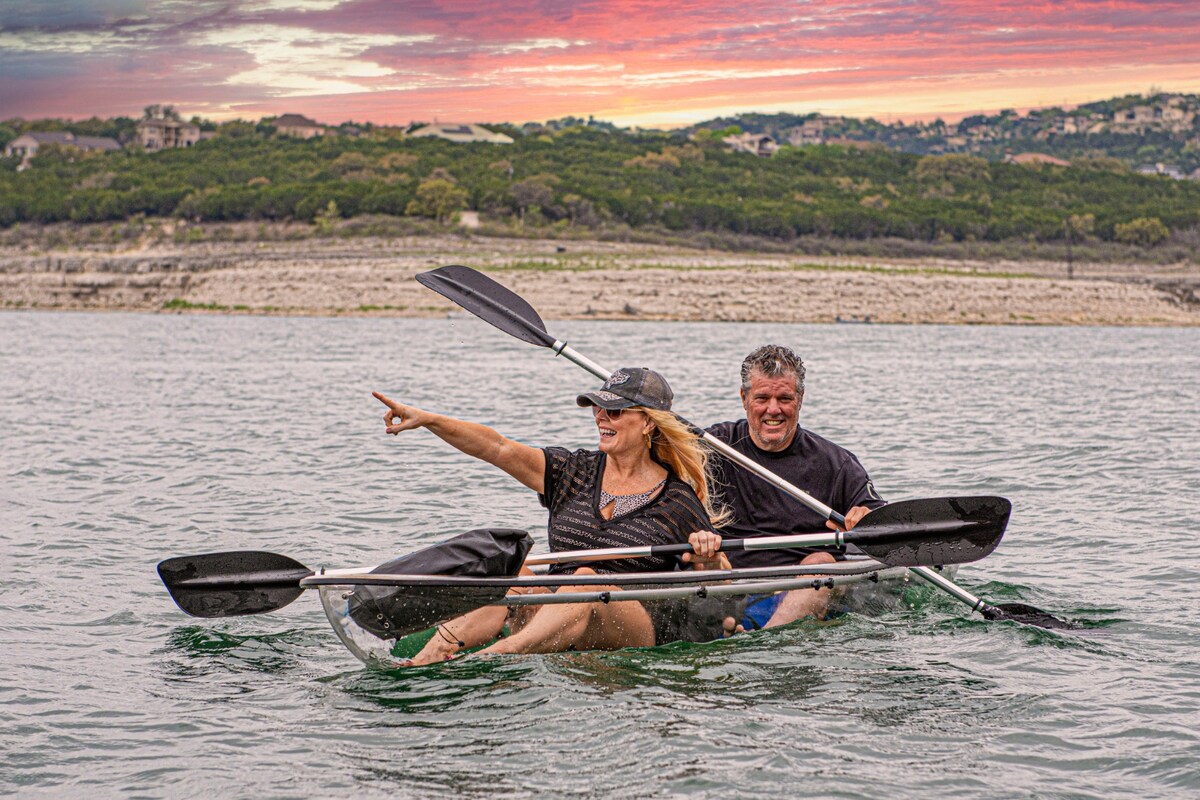
[(534, 492), (545, 487), (546, 455), (538, 447), (512, 441), (486, 425), (432, 414), (415, 405), (397, 403), (379, 392), (372, 393), (388, 407), (383, 415), (388, 433), (395, 435), (401, 431), (426, 428), (468, 456), (499, 467)]

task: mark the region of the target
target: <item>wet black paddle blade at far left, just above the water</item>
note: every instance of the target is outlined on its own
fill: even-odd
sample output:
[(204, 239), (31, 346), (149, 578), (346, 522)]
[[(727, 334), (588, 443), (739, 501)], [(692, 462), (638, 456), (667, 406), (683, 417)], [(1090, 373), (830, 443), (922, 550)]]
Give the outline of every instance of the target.
[(242, 616), (278, 610), (304, 594), (312, 570), (286, 555), (206, 553), (167, 559), (158, 577), (172, 600), (192, 616)]

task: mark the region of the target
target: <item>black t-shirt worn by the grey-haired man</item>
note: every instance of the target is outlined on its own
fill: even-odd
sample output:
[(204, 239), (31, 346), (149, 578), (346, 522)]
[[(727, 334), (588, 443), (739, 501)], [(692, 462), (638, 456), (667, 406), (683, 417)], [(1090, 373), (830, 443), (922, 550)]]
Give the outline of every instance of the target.
[[(719, 422), (708, 432), (834, 511), (846, 513), (853, 506), (884, 505), (858, 458), (810, 431), (798, 427), (792, 444), (780, 452), (760, 450), (750, 439), (745, 420)], [(714, 493), (733, 513), (721, 527), (725, 539), (829, 533), (821, 515), (748, 469), (720, 453), (713, 453), (713, 467)], [(728, 557), (737, 567), (776, 566), (796, 564), (812, 552), (811, 548), (736, 551)]]

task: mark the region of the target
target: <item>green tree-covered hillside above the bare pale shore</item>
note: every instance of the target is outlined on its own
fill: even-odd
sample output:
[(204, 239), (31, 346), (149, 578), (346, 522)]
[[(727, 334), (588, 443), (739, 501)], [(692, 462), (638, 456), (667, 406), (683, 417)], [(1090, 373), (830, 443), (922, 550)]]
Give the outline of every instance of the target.
[(19, 172), (16, 160), (0, 160), (0, 225), (134, 215), (449, 222), (473, 210), (515, 227), (1144, 246), (1200, 227), (1200, 182), (1135, 175), (1105, 160), (1026, 167), (836, 145), (760, 158), (728, 150), (715, 133), (504, 130), (514, 144), (395, 130), (300, 140), (277, 138), (269, 125), (227, 124), (212, 139), (155, 154), (43, 146)]

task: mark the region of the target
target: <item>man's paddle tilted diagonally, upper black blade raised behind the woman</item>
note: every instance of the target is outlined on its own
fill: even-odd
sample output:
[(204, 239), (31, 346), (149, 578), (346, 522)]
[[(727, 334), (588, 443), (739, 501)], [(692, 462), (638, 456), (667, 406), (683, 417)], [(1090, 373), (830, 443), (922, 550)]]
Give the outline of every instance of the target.
[[(551, 336), (550, 332), (546, 331), (546, 324), (541, 320), (541, 317), (528, 302), (524, 301), (524, 299), (481, 272), (478, 272), (468, 266), (449, 265), (428, 272), (421, 272), (416, 276), (416, 279), (426, 288), (437, 291), (466, 311), (475, 314), (484, 321), (500, 329), (505, 333), (509, 333), (522, 342), (528, 342), (529, 344), (550, 348), (554, 355), (562, 355), (566, 360), (587, 369), (601, 380), (606, 380), (612, 374), (608, 369), (605, 369), (596, 362), (576, 353), (575, 349), (566, 344), (566, 342)], [(821, 503), (803, 489), (792, 486), (790, 482), (785, 481), (764, 467), (750, 461), (710, 433), (698, 428), (678, 415), (676, 416), (684, 425), (688, 425), (692, 431), (695, 431), (708, 446), (716, 450), (730, 461), (733, 461), (764, 481), (794, 497), (797, 500), (812, 509), (822, 517), (832, 519), (838, 525), (845, 527), (846, 518), (840, 512)], [(947, 498), (943, 501), (953, 504), (958, 500), (964, 500), (964, 498)], [(1008, 500), (1004, 500), (1003, 498), (994, 498), (992, 500), (995, 503), (992, 504), (991, 524), (998, 525), (998, 530), (1003, 533), (1004, 527), (1008, 524), (1008, 515), (1012, 506), (1008, 504)], [(884, 506), (884, 509), (887, 507), (889, 506)], [(880, 511), (882, 510), (872, 511), (864, 517), (858, 525), (856, 525), (854, 530), (858, 530), (866, 524), (868, 521), (876, 513), (880, 513)], [(900, 522), (893, 530), (902, 530), (905, 522), (918, 528), (923, 524), (919, 518), (910, 518)], [(965, 537), (970, 540), (970, 534), (976, 534), (980, 530), (980, 521), (971, 519), (964, 522), (967, 522), (970, 527), (965, 527), (961, 533), (964, 533)], [(948, 537), (953, 534), (953, 523), (947, 525), (946, 534)], [(932, 583), (935, 587), (948, 591), (953, 597), (967, 603), (972, 607), (972, 610), (980, 612), (986, 619), (1008, 619), (1030, 625), (1038, 625), (1040, 627), (1069, 626), (1069, 622), (1058, 620), (1046, 612), (1031, 606), (1025, 606), (1022, 603), (1010, 603), (1007, 606), (986, 603), (956, 584), (942, 578), (942, 576), (937, 575), (932, 570), (928, 570), (923, 566), (914, 566), (912, 571), (929, 583)], [(949, 587), (953, 587), (954, 590), (952, 591)], [(1046, 620), (1054, 620), (1054, 622), (1048, 624)]]

